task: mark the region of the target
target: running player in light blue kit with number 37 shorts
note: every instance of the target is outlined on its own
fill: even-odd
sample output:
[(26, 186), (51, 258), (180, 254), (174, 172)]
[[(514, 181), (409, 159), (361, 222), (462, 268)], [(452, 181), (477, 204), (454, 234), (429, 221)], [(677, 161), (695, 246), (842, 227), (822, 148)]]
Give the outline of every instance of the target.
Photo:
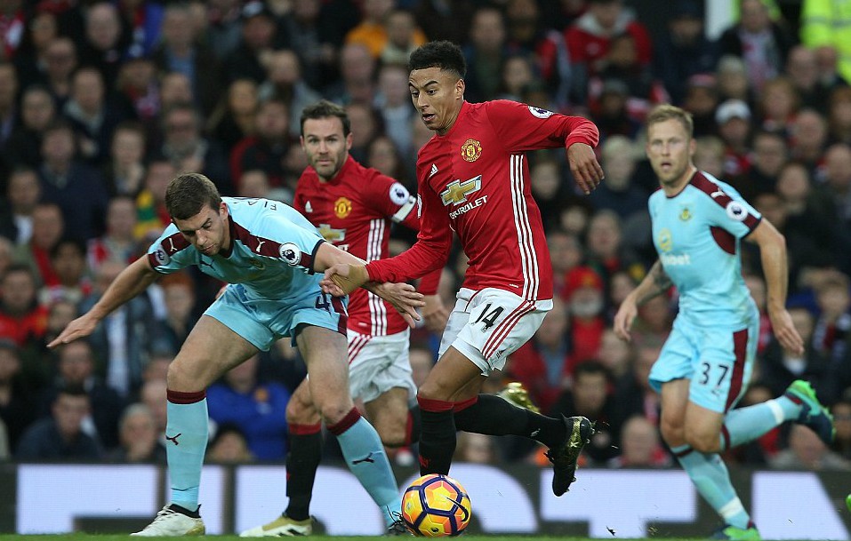
[(774, 400), (733, 409), (751, 378), (759, 338), (759, 313), (742, 277), (743, 240), (759, 245), (775, 337), (804, 351), (785, 308), (785, 240), (733, 187), (697, 171), (691, 115), (663, 105), (646, 124), (646, 154), (662, 187), (649, 201), (659, 260), (623, 301), (614, 330), (630, 339), (638, 305), (677, 288), (679, 313), (649, 376), (662, 394), (662, 436), (724, 519), (715, 538), (759, 539), (719, 452), (785, 421), (809, 426), (826, 443), (834, 433), (830, 414), (802, 380)]

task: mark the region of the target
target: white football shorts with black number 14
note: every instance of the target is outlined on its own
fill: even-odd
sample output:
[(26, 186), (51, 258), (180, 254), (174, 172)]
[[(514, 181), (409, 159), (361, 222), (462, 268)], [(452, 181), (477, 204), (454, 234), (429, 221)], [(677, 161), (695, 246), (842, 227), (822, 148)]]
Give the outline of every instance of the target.
[(502, 370), (541, 326), (552, 299), (529, 301), (507, 290), (462, 288), (440, 341), (438, 356), (453, 346), (489, 375)]

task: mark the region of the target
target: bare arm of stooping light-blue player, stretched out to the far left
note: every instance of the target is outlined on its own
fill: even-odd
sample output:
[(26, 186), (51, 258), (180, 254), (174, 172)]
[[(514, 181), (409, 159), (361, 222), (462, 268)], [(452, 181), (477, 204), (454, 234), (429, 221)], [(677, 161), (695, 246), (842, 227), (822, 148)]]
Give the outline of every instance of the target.
[(94, 332), (98, 323), (125, 302), (148, 289), (148, 286), (157, 280), (159, 274), (150, 267), (148, 258), (142, 256), (133, 261), (127, 268), (116, 276), (114, 282), (109, 284), (103, 297), (92, 306), (92, 309), (68, 323), (60, 335), (52, 340), (48, 347), (68, 344), (77, 338), (87, 337)]

